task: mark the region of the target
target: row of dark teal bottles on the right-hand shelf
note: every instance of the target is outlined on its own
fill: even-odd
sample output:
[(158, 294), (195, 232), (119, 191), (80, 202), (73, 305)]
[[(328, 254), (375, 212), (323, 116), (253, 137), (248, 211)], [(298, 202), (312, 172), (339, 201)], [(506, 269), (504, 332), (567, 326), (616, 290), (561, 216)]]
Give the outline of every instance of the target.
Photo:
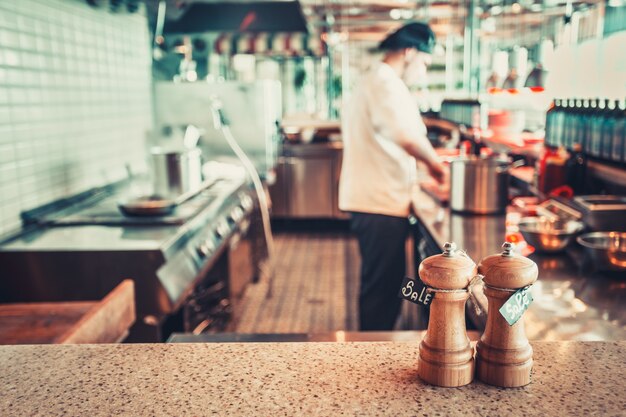
[(556, 99), (546, 115), (546, 145), (594, 158), (626, 162), (626, 102), (602, 99)]

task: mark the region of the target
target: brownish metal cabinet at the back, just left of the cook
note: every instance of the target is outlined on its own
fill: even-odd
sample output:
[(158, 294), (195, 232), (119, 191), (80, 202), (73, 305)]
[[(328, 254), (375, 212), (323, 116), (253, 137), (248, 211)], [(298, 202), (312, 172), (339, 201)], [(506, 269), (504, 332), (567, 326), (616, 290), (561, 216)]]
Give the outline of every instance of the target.
[(342, 219), (339, 210), (341, 143), (283, 146), (270, 188), (272, 216), (293, 219)]

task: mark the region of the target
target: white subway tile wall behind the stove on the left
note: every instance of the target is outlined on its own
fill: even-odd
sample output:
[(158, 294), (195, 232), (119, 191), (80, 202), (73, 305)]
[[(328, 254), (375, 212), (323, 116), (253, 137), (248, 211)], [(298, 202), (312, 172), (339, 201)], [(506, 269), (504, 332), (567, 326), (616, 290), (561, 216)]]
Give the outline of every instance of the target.
[(145, 167), (145, 11), (0, 0), (0, 236), (20, 212)]

